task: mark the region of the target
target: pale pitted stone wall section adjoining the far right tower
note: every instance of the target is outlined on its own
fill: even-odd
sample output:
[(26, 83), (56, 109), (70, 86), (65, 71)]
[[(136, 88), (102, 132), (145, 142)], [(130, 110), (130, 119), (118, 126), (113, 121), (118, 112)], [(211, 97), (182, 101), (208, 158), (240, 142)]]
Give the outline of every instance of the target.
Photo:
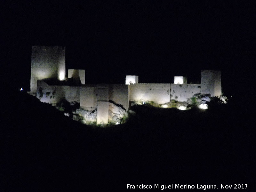
[(171, 100), (187, 101), (201, 92), (201, 84), (171, 84)]

